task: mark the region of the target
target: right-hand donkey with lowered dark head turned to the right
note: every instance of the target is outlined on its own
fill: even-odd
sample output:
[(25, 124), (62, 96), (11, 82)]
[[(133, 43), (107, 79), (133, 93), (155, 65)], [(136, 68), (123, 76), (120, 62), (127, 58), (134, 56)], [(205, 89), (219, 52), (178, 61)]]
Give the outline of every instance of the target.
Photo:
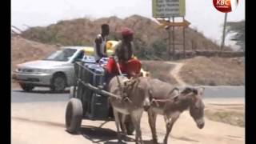
[[(179, 93), (177, 87), (172, 87), (166, 82), (157, 79), (150, 81), (153, 87), (153, 99), (148, 110), (150, 129), (154, 143), (158, 143), (155, 122), (157, 114), (162, 114), (166, 122), (166, 135), (163, 143), (167, 143), (170, 131), (184, 110), (190, 109), (190, 115), (194, 118), (199, 129), (202, 129), (204, 122), (204, 104), (202, 102), (203, 87), (186, 87)], [(168, 89), (169, 87), (169, 89)]]

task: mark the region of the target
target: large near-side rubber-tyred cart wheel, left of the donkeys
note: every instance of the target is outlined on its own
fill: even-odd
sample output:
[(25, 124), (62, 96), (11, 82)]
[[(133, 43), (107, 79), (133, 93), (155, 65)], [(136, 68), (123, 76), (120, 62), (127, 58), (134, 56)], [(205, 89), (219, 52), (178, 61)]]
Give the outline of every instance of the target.
[(82, 123), (82, 102), (78, 98), (71, 98), (66, 106), (66, 130), (71, 134), (78, 131)]

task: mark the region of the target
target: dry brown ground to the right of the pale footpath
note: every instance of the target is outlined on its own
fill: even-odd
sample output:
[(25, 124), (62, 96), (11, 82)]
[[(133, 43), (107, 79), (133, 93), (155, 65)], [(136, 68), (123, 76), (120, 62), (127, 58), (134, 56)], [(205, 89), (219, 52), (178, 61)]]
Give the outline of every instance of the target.
[(182, 79), (191, 85), (241, 86), (245, 83), (242, 58), (195, 57), (183, 60)]

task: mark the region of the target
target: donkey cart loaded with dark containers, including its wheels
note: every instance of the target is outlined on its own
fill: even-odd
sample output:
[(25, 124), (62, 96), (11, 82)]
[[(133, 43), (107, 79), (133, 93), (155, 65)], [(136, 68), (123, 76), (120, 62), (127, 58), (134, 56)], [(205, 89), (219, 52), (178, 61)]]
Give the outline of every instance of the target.
[[(78, 132), (83, 119), (114, 121), (108, 98), (119, 96), (103, 90), (105, 75), (102, 66), (76, 62), (74, 72), (76, 84), (74, 89), (71, 89), (72, 95), (66, 105), (66, 130), (71, 134)], [(130, 116), (126, 118), (125, 126), (127, 134), (134, 132)]]

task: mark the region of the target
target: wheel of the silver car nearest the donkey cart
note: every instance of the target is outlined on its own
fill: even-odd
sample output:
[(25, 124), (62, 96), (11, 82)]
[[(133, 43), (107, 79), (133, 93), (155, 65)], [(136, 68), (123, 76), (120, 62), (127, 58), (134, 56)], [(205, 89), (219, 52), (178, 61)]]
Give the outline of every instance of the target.
[(66, 88), (66, 78), (62, 74), (54, 75), (54, 78), (51, 83), (50, 90), (52, 91), (64, 91)]

